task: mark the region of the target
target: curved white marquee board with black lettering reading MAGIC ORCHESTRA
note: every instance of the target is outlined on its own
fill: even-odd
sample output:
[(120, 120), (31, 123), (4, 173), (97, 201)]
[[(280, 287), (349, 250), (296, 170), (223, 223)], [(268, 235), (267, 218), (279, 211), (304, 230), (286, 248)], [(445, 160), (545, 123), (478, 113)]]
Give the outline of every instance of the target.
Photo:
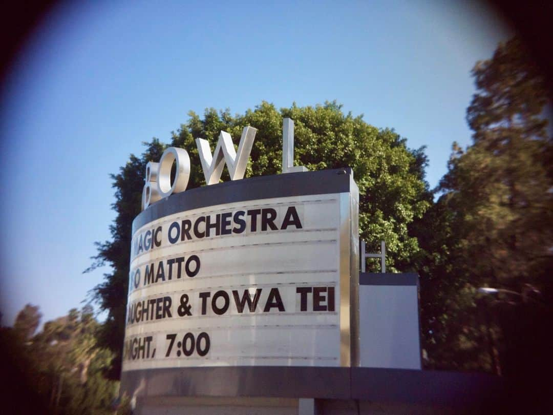
[(137, 216), (123, 371), (354, 364), (358, 193), (345, 173), (206, 186)]

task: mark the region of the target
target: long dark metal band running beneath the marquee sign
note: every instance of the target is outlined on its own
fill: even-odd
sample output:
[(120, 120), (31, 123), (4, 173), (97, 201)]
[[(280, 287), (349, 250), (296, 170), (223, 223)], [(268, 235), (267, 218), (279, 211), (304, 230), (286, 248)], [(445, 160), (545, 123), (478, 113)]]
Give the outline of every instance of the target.
[(265, 396), (467, 406), (504, 398), (506, 386), (504, 379), (485, 373), (370, 367), (187, 367), (121, 376), (121, 395), (131, 398)]

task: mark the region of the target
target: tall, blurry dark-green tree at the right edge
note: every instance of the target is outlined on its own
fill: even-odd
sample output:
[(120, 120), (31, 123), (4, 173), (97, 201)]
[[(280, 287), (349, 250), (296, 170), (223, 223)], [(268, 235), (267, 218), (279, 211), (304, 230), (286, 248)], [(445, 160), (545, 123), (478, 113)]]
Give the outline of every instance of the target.
[[(546, 87), (516, 38), (472, 74), (473, 143), (465, 150), (453, 143), (440, 200), (415, 232), (434, 229), (420, 238), (425, 349), (433, 367), (516, 373), (548, 344), (553, 143)], [(502, 291), (478, 294), (485, 286)]]

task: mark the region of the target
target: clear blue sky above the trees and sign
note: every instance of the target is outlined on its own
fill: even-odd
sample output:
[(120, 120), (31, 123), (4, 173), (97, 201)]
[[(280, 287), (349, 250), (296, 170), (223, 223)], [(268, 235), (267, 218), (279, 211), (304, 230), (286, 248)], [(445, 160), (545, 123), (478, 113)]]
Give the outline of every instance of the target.
[(427, 146), (435, 186), (470, 142), (469, 72), (509, 38), (469, 2), (113, 3), (51, 12), (1, 90), (3, 324), (81, 307), (108, 271), (82, 274), (109, 238), (109, 173), (189, 110), (337, 100)]

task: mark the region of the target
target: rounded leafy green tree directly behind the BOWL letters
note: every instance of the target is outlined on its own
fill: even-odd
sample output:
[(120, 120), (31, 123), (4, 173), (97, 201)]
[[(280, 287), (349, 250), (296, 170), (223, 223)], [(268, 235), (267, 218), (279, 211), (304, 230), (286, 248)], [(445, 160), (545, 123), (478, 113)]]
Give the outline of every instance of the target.
[[(309, 170), (351, 167), (359, 186), (361, 235), (369, 249), (377, 249), (380, 240), (388, 248), (390, 270), (411, 262), (418, 252), (416, 238), (409, 235), (408, 224), (424, 214), (429, 206), (429, 191), (424, 181), (426, 157), (423, 149), (411, 151), (406, 141), (392, 129), (378, 129), (363, 121), (362, 116), (344, 114), (336, 102), (315, 107), (281, 108), (262, 102), (254, 110), (232, 116), (210, 108), (200, 117), (189, 113), (189, 121), (171, 134), (170, 145), (182, 147), (190, 154), (191, 173), (188, 188), (205, 183), (195, 138), (204, 138), (215, 148), (221, 132), (229, 132), (234, 140), (243, 127), (258, 129), (246, 177), (278, 174), (282, 160), (282, 124), (289, 117), (295, 122), (295, 163)], [(113, 376), (121, 370), (121, 346), (127, 295), (131, 224), (140, 212), (140, 196), (144, 185), (145, 164), (159, 160), (163, 146), (158, 139), (147, 143), (142, 157), (131, 160), (113, 175), (117, 212), (111, 226), (112, 240), (99, 243), (92, 268), (107, 264), (112, 272), (93, 291), (95, 299), (108, 310), (104, 338), (111, 350), (118, 353)], [(225, 170), (223, 180), (228, 180)], [(369, 264), (370, 269), (371, 264)], [(376, 268), (374, 264), (373, 269)]]

